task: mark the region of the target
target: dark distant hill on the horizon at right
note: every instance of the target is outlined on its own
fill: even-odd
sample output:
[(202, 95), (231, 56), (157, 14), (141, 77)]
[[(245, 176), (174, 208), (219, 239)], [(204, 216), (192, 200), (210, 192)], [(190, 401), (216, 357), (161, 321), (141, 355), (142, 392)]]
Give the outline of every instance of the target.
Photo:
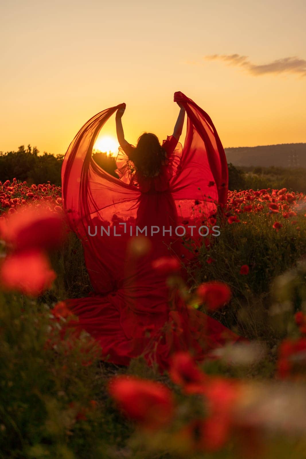
[(228, 162), (234, 166), (306, 168), (306, 143), (225, 148)]

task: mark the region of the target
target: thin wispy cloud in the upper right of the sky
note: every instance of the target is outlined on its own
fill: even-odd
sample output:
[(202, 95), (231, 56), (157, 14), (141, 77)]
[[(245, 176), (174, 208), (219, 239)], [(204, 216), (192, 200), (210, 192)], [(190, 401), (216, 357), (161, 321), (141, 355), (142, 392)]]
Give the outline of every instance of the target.
[(228, 65), (235, 65), (246, 69), (252, 75), (265, 75), (267, 73), (296, 73), (302, 77), (306, 77), (306, 60), (299, 59), (296, 56), (284, 57), (276, 61), (268, 62), (267, 64), (254, 64), (247, 58), (248, 56), (240, 56), (239, 54), (213, 54), (204, 57), (208, 61), (223, 61)]

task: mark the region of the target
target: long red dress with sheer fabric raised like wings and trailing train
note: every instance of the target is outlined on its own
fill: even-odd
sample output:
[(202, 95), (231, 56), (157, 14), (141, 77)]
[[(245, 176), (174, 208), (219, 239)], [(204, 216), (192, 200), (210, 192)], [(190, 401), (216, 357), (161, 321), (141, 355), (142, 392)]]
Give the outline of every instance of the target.
[[(92, 159), (100, 129), (121, 104), (84, 124), (62, 166), (63, 207), (82, 241), (95, 290), (87, 298), (67, 300), (78, 316), (71, 325), (94, 336), (103, 358), (115, 364), (128, 365), (142, 354), (148, 364), (156, 362), (163, 370), (177, 350), (188, 349), (202, 360), (214, 347), (239, 339), (186, 306), (179, 291), (167, 285), (167, 274), (152, 267), (160, 257), (182, 260), (187, 252), (175, 229), (180, 226), (181, 234), (215, 212), (216, 204), (225, 207), (228, 192), (226, 157), (211, 119), (181, 92), (174, 94), (174, 101), (186, 109), (186, 139), (184, 147), (173, 136), (163, 141), (167, 163), (156, 177), (135, 172), (128, 158), (131, 145), (125, 149), (128, 154), (119, 149), (120, 179)], [(144, 232), (136, 235), (137, 228)]]

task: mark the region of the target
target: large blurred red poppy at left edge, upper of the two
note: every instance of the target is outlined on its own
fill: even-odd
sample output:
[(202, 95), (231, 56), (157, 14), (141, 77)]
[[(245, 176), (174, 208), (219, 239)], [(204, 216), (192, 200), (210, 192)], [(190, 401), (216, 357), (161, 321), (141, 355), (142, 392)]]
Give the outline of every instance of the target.
[(65, 237), (63, 218), (45, 203), (35, 207), (23, 205), (8, 218), (1, 219), (0, 235), (18, 250), (56, 248)]

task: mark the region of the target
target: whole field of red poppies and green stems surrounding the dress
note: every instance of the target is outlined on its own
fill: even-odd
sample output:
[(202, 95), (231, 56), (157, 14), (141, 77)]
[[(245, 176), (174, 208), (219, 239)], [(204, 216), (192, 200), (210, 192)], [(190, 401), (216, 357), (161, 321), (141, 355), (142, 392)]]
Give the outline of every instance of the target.
[(65, 300), (93, 289), (61, 188), (0, 182), (1, 459), (306, 458), (306, 196), (229, 191), (206, 223), (221, 234), (183, 240), (184, 280), (154, 268), (245, 341), (123, 367), (69, 326)]

